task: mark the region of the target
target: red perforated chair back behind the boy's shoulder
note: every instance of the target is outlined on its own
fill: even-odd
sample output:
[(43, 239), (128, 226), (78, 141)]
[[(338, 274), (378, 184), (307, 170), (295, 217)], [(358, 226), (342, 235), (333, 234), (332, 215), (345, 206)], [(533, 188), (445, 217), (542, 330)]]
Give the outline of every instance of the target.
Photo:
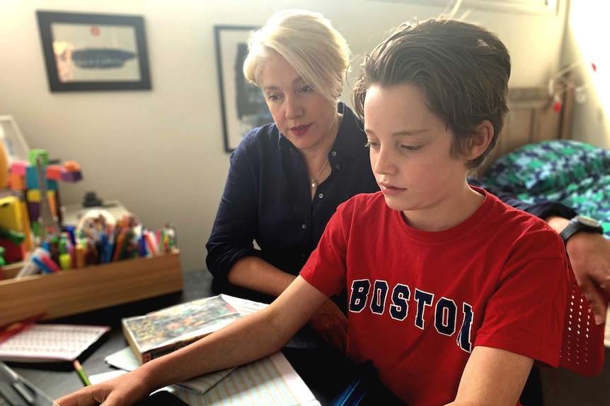
[(593, 376), (604, 366), (604, 325), (597, 326), (589, 302), (569, 269), (568, 305), (565, 307), (559, 366)]

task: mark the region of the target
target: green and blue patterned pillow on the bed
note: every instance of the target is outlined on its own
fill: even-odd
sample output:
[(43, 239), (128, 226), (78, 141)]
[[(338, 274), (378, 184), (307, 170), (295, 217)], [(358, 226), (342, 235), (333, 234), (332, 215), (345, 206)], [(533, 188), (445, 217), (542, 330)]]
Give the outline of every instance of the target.
[(515, 193), (552, 193), (589, 177), (610, 173), (610, 151), (573, 140), (527, 144), (500, 157), (483, 183)]

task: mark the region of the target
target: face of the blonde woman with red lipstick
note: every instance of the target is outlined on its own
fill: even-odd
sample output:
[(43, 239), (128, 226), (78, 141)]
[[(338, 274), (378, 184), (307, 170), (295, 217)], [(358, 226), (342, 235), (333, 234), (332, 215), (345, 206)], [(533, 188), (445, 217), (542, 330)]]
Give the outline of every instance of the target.
[(299, 150), (333, 143), (338, 131), (337, 106), (305, 83), (277, 52), (267, 59), (260, 85), (275, 125)]

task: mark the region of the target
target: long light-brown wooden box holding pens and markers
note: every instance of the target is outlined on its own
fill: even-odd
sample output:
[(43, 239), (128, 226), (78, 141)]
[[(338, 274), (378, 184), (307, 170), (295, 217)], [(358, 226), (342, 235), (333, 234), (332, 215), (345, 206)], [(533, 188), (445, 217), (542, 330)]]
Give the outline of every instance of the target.
[(178, 251), (16, 279), (20, 268), (8, 265), (2, 270), (0, 326), (41, 314), (42, 320), (79, 314), (183, 288)]

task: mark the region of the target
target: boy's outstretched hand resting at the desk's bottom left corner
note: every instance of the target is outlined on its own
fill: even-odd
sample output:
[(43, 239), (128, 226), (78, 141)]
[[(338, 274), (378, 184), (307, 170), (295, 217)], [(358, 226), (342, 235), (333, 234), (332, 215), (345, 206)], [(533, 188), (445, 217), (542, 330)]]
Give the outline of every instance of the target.
[(125, 375), (86, 386), (74, 393), (54, 401), (53, 406), (129, 406), (146, 398), (151, 392), (144, 385), (141, 371), (128, 372)]

